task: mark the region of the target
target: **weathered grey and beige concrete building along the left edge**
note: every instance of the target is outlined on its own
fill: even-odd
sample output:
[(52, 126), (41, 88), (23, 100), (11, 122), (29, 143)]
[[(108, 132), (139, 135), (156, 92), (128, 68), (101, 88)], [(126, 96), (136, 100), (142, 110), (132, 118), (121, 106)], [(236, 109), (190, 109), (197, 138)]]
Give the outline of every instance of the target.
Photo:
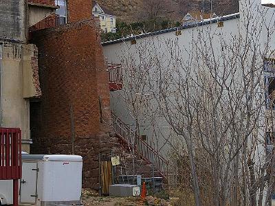
[(22, 148), (30, 152), (30, 102), (41, 90), (28, 28), (53, 14), (56, 6), (51, 1), (1, 1), (0, 10), (1, 126), (21, 128)]

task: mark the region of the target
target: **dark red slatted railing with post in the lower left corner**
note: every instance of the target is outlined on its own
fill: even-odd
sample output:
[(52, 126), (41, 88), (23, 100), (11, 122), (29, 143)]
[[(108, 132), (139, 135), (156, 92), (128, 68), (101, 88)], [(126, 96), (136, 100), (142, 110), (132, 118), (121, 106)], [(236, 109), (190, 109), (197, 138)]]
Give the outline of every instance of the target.
[(18, 180), (22, 176), (21, 130), (0, 128), (0, 180), (13, 180), (13, 204), (18, 206)]

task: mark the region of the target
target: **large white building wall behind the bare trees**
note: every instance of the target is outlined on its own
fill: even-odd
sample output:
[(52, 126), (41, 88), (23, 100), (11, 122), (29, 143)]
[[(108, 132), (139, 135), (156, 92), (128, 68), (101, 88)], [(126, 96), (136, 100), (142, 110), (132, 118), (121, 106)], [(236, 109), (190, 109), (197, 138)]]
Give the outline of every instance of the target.
[[(254, 33), (251, 33), (250, 36), (249, 31), (252, 30)], [(230, 76), (225, 82), (230, 82), (230, 80), (234, 79), (239, 86), (244, 82), (239, 79), (242, 77), (240, 68), (247, 69), (250, 72), (250, 68), (253, 68), (250, 63), (254, 62), (257, 65), (256, 70), (260, 74), (257, 77), (259, 78), (258, 87), (261, 88), (259, 89), (261, 92), (258, 91), (255, 96), (261, 102), (256, 103), (257, 100), (255, 98), (255, 102), (252, 105), (259, 104), (257, 108), (260, 108), (261, 113), (256, 118), (257, 126), (254, 126), (257, 130), (252, 128), (253, 135), (248, 137), (248, 144), (254, 144), (255, 146), (255, 155), (252, 157), (254, 165), (250, 165), (250, 167), (254, 168), (252, 171), (259, 172), (259, 168), (266, 161), (265, 158), (269, 155), (270, 150), (274, 148), (274, 103), (272, 102), (274, 102), (275, 38), (273, 37), (274, 33), (270, 35), (270, 31), (274, 32), (274, 8), (261, 5), (261, 1), (254, 1), (251, 4), (251, 2), (243, 0), (240, 1), (240, 12), (236, 14), (102, 43), (107, 61), (113, 64), (121, 64), (123, 69), (123, 90), (111, 93), (111, 110), (132, 130), (135, 130), (141, 136), (146, 136), (148, 144), (154, 142), (155, 150), (161, 152), (164, 157), (170, 157), (169, 152), (178, 149), (180, 144), (183, 146), (179, 147), (177, 155), (181, 154), (188, 144), (188, 141), (184, 139), (184, 135), (181, 136), (181, 130), (184, 130), (187, 136), (189, 135), (187, 133), (188, 120), (186, 117), (188, 116), (188, 108), (186, 110), (182, 109), (186, 106), (182, 102), (185, 100), (186, 102), (192, 101), (192, 98), (194, 98), (197, 100), (197, 102), (194, 101), (195, 104), (201, 104), (203, 98), (199, 98), (197, 93), (201, 97), (207, 95), (207, 93), (202, 92), (203, 89), (201, 91), (194, 89), (194, 93), (186, 94), (185, 91), (188, 91), (186, 88), (200, 87), (201, 85), (196, 85), (195, 83), (207, 76), (209, 70), (217, 69), (217, 76), (219, 76), (219, 71), (224, 71), (224, 68), (236, 68), (234, 76)], [(253, 41), (243, 42), (245, 39), (243, 37), (247, 34), (247, 38)], [(259, 35), (254, 36), (254, 34)], [(201, 56), (204, 59), (196, 58), (197, 53), (201, 51), (199, 50), (201, 47), (197, 46), (200, 44), (203, 45), (203, 48), (207, 48), (205, 50), (202, 49), (203, 54)], [(256, 49), (249, 49), (248, 53), (245, 54), (249, 57), (243, 67), (241, 67), (238, 60), (225, 60), (229, 56), (235, 55), (236, 57), (242, 54), (241, 52), (245, 50), (244, 48), (248, 47)], [(232, 48), (232, 51), (236, 48), (240, 49), (232, 54), (233, 52), (230, 53), (227, 50), (228, 48)], [(220, 55), (223, 54), (223, 51), (228, 51), (228, 53), (221, 57)], [(251, 51), (256, 52), (253, 55)], [(252, 59), (254, 60), (252, 61)], [(226, 62), (224, 67), (222, 66), (223, 60)], [(211, 62), (212, 65), (207, 65), (205, 62)], [(234, 65), (234, 62), (238, 63)], [(216, 68), (213, 66), (214, 63), (217, 63)], [(265, 72), (262, 72), (263, 68), (265, 68)], [(190, 72), (190, 76), (187, 77), (193, 79), (194, 84), (185, 84), (188, 82), (184, 79), (186, 78), (185, 74), (188, 72)], [(208, 84), (208, 82), (205, 83)], [(180, 89), (175, 89), (175, 87)], [(187, 98), (184, 95), (187, 95)], [(185, 98), (182, 98), (182, 96)], [(222, 96), (222, 98), (225, 96)], [(245, 102), (241, 103), (241, 105), (245, 105)], [(171, 106), (170, 111), (166, 110), (166, 106)], [(222, 109), (225, 109), (225, 107)], [(195, 106), (192, 108), (195, 108)], [(195, 111), (192, 108), (190, 113)], [(242, 111), (240, 110), (240, 113)], [(175, 124), (168, 122), (170, 121), (169, 117), (171, 117), (168, 113), (175, 114), (175, 119), (173, 119)], [(186, 119), (184, 119), (185, 117)], [(208, 117), (206, 115), (206, 119)], [(203, 132), (208, 131), (208, 126), (210, 128), (211, 125), (208, 123), (214, 122), (213, 119), (215, 118), (219, 118), (219, 115), (210, 117), (209, 121), (206, 121), (206, 128), (204, 128)], [(243, 121), (245, 122), (245, 118)], [(177, 124), (179, 124), (179, 127), (177, 127)], [(179, 129), (177, 130), (179, 131), (178, 133), (173, 126)], [(243, 125), (243, 128), (246, 128), (246, 126)], [(217, 127), (217, 130), (219, 130), (219, 127)], [(206, 144), (211, 142), (211, 137), (214, 136), (214, 133), (215, 131), (210, 129), (210, 133), (206, 134)], [(198, 134), (194, 133), (191, 137), (195, 139)], [(232, 137), (234, 135), (228, 135), (230, 141)], [(226, 139), (225, 135), (221, 139)], [(256, 144), (252, 139), (256, 139)], [(194, 149), (194, 154), (197, 149)], [(245, 163), (240, 163), (240, 167), (242, 165), (245, 165)], [(229, 187), (225, 190), (229, 190)], [(265, 205), (265, 198), (269, 199), (271, 195), (266, 190), (263, 190), (261, 194), (264, 197), (259, 200), (261, 203), (258, 204)], [(257, 198), (261, 194), (255, 191)]]

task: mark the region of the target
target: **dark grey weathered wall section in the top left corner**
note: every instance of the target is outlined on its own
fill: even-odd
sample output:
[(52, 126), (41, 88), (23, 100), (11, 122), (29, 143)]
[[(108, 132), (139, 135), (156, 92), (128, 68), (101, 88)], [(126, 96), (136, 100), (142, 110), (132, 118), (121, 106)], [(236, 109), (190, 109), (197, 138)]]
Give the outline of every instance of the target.
[(0, 37), (25, 41), (25, 0), (0, 1)]

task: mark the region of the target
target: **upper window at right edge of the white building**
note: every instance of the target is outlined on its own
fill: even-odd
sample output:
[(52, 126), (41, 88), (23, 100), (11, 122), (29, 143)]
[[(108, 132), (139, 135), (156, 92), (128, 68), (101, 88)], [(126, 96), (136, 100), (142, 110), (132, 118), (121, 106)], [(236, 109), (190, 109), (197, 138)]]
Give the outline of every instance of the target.
[(265, 59), (265, 105), (267, 109), (275, 108), (275, 59)]

